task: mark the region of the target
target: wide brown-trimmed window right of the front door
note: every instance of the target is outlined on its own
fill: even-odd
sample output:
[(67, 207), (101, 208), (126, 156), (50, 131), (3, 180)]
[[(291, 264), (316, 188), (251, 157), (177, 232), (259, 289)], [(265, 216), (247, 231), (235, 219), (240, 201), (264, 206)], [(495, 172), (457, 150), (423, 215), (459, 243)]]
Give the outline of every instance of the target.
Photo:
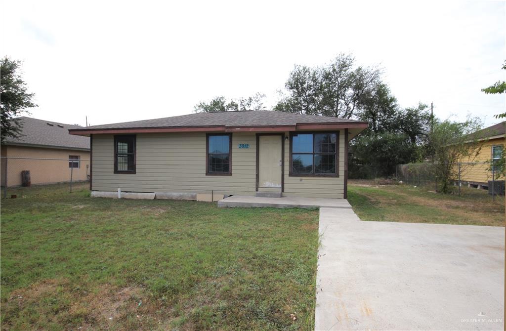
[(290, 135), (290, 176), (339, 177), (339, 132)]

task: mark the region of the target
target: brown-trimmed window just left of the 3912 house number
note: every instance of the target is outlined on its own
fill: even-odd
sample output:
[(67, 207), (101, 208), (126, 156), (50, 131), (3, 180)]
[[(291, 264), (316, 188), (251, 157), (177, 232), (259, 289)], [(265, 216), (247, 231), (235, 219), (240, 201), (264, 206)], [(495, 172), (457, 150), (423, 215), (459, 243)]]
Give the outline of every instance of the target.
[(206, 175), (232, 175), (232, 135), (207, 134)]

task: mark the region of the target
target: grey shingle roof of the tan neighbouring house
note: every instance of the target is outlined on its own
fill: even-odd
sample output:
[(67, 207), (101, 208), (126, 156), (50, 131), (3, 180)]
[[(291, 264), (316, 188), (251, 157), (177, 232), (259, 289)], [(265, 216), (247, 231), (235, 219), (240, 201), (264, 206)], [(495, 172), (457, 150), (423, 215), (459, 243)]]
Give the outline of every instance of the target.
[(17, 117), (17, 120), (21, 124), (21, 134), (18, 138), (7, 139), (6, 145), (90, 150), (90, 138), (68, 134), (69, 129), (82, 127), (26, 116)]

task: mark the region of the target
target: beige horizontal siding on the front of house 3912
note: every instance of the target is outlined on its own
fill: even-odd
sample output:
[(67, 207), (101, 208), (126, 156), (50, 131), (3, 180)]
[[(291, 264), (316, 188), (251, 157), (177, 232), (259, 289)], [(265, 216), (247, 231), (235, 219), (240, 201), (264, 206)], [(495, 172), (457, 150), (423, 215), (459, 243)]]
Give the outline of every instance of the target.
[[(288, 136), (288, 133), (286, 133)], [(205, 134), (137, 135), (136, 174), (114, 174), (114, 137), (93, 137), (93, 190), (135, 192), (196, 192), (254, 195), (256, 135), (234, 133), (232, 176), (205, 175)], [(239, 149), (238, 144), (249, 144)], [(340, 134), (339, 178), (289, 177), (289, 142), (284, 141), (284, 195), (343, 198), (344, 131)]]

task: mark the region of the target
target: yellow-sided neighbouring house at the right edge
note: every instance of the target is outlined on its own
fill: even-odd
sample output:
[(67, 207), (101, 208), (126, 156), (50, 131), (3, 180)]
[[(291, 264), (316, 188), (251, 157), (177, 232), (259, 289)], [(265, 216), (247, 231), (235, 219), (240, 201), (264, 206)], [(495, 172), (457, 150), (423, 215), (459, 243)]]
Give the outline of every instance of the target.
[[(505, 143), (505, 128), (506, 121), (473, 134), (475, 139), (478, 139), (478, 155), (471, 160), (471, 164), (462, 164), (461, 181), (468, 183), (470, 186), (488, 187), (488, 181), (492, 180), (492, 172), (488, 162), (504, 157), (502, 147)], [(495, 179), (497, 180), (497, 177)], [(504, 178), (500, 178), (500, 180), (504, 180)]]

